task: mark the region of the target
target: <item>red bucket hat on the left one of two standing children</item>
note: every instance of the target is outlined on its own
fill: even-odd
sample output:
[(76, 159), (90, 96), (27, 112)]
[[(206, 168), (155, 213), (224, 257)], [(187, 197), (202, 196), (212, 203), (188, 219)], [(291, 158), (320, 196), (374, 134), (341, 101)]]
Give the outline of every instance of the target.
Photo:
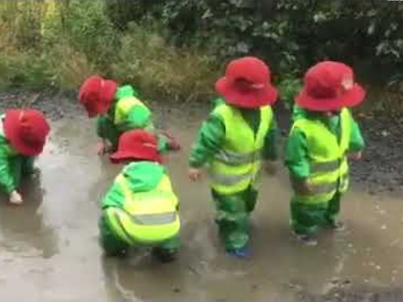
[(258, 108), (276, 102), (277, 90), (271, 84), (269, 67), (258, 58), (247, 56), (233, 60), (225, 77), (216, 82), (216, 91), (227, 104)]

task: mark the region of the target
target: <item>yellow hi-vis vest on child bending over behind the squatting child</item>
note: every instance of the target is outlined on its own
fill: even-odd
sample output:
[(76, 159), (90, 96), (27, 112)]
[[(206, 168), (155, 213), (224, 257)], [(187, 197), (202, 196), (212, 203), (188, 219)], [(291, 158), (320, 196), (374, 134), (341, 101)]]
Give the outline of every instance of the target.
[[(144, 108), (147, 109), (147, 111), (151, 115), (150, 109), (143, 102), (141, 102), (141, 100), (139, 100), (138, 98), (135, 98), (134, 96), (128, 96), (125, 98), (121, 98), (120, 100), (118, 100), (116, 102), (115, 119), (114, 119), (114, 124), (121, 131), (131, 130), (130, 126), (126, 125), (126, 123), (127, 123), (127, 116), (129, 114), (130, 110), (132, 110), (134, 106), (143, 106)], [(147, 125), (144, 125), (143, 129), (152, 132), (152, 131), (154, 131), (154, 125), (150, 121)]]

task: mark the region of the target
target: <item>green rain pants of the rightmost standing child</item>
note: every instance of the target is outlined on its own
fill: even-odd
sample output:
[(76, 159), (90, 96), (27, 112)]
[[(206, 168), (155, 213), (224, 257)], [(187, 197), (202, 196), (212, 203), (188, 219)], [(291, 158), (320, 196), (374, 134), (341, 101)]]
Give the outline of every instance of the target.
[(340, 212), (341, 194), (337, 192), (327, 202), (302, 204), (291, 200), (291, 227), (299, 235), (316, 235), (318, 227), (332, 225)]

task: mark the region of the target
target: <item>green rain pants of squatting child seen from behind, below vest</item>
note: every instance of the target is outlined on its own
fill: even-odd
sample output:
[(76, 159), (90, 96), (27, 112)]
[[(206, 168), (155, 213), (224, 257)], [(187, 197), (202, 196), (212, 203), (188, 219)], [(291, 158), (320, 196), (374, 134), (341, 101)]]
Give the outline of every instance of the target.
[[(123, 254), (129, 247), (144, 247), (147, 245), (129, 245), (127, 242), (120, 240), (112, 231), (108, 219), (102, 214), (98, 226), (100, 229), (100, 245), (104, 249), (105, 253), (110, 256), (117, 256)], [(148, 247), (158, 247), (169, 252), (177, 252), (180, 246), (179, 234), (172, 239), (162, 242), (158, 245)]]

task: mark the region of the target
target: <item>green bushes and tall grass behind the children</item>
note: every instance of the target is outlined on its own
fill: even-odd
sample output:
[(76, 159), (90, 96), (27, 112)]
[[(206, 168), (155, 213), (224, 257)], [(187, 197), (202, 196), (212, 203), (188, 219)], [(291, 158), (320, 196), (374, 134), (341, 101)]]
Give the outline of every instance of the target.
[(0, 89), (77, 89), (91, 73), (147, 98), (205, 101), (228, 60), (264, 59), (292, 103), (319, 60), (354, 67), (371, 110), (403, 111), (396, 1), (2, 1)]

